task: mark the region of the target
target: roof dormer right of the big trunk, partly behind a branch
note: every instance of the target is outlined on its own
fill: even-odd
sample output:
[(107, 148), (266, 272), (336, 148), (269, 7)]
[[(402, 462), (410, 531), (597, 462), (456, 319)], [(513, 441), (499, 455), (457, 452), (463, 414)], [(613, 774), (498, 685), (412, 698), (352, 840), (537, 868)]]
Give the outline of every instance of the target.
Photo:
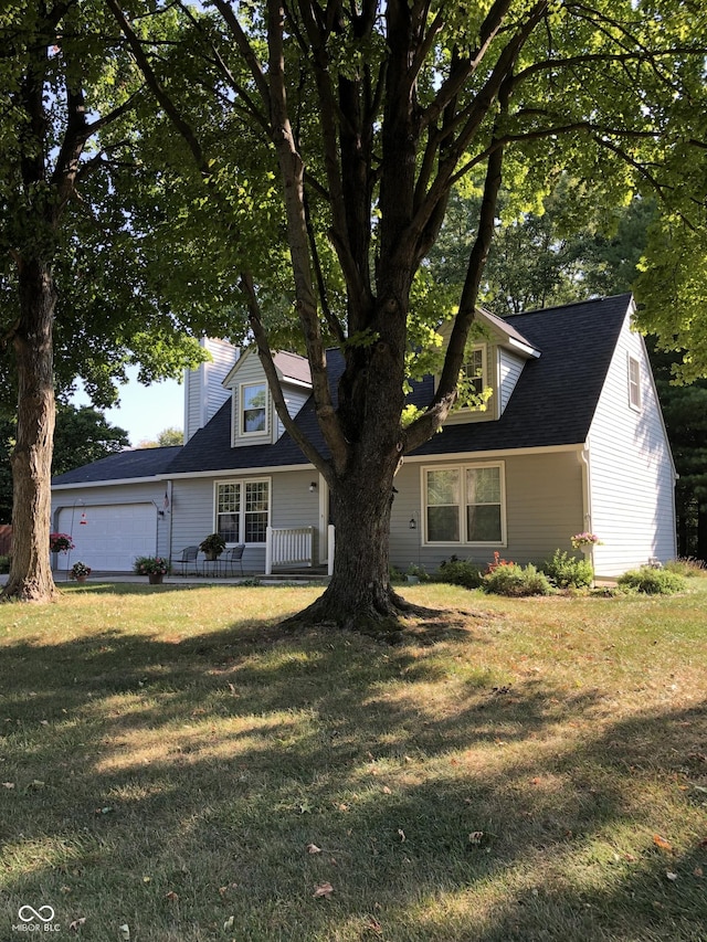
[[(452, 321), (442, 325), (440, 334), (444, 346), (452, 332)], [(540, 351), (529, 340), (490, 311), (476, 311), (475, 329), (466, 343), (462, 371), (475, 401), (456, 409), (447, 424), (462, 422), (490, 422), (500, 419), (520, 378), (525, 363), (537, 359)]]

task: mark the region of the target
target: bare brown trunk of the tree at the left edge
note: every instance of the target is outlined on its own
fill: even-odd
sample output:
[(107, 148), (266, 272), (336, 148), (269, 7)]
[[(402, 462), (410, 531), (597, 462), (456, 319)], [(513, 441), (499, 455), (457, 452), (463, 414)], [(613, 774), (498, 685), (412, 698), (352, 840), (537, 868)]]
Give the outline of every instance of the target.
[(20, 321), (13, 338), (18, 370), (18, 433), (12, 454), (12, 564), (2, 599), (50, 601), (51, 472), (54, 440), (52, 322), (55, 290), (50, 266), (19, 265)]

